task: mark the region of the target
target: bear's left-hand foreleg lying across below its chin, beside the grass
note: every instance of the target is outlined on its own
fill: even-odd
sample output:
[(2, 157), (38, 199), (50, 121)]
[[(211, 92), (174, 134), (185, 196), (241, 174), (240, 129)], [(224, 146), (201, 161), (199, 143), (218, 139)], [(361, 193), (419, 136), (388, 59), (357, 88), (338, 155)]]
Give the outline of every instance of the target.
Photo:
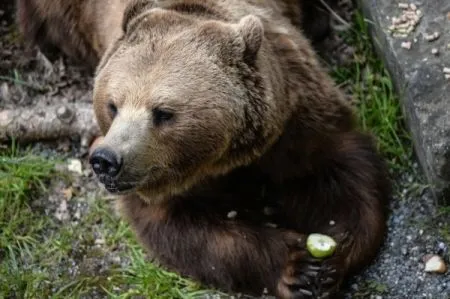
[(120, 204), (140, 241), (169, 270), (226, 292), (275, 294), (289, 244), (305, 236), (221, 218), (215, 199), (150, 206), (127, 196)]

